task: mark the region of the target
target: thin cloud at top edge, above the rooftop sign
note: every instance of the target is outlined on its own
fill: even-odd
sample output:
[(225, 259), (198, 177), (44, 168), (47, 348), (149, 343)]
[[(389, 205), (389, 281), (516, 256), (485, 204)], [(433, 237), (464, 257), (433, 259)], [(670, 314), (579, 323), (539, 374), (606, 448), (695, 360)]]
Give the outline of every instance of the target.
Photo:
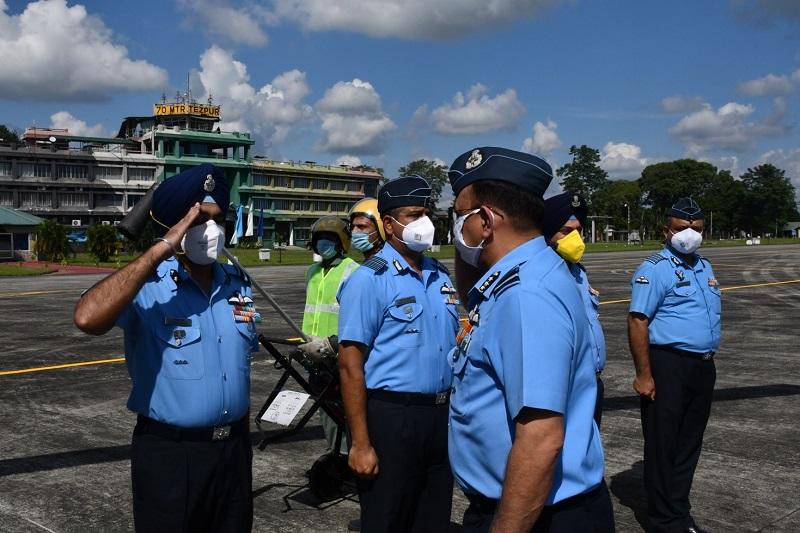
[(179, 0), (193, 21), (199, 22), (215, 39), (249, 46), (264, 46), (267, 35), (255, 6), (234, 6), (224, 0)]

